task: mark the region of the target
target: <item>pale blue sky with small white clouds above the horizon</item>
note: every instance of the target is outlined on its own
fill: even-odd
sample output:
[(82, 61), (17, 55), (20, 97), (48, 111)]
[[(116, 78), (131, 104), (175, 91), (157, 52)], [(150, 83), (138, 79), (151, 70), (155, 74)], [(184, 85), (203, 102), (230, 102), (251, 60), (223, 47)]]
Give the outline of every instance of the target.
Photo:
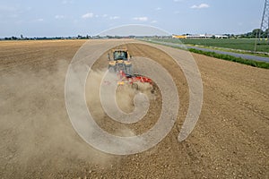
[(0, 38), (93, 36), (127, 24), (171, 34), (241, 34), (260, 27), (264, 5), (265, 0), (0, 0)]

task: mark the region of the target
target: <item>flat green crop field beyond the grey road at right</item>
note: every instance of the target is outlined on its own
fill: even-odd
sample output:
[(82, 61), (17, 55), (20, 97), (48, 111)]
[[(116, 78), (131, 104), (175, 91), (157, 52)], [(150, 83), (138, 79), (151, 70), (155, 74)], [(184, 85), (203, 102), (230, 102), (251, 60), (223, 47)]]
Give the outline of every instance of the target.
[[(156, 40), (156, 39), (154, 39)], [(169, 39), (158, 39), (160, 41), (170, 42), (170, 43), (180, 43), (180, 41), (184, 44), (189, 45), (200, 45), (205, 47), (224, 47), (231, 49), (239, 49), (239, 50), (247, 50), (254, 51), (255, 49), (255, 41), (256, 39), (246, 39), (246, 38), (228, 38), (228, 39), (219, 39), (219, 38), (207, 38), (207, 39), (177, 39), (177, 38), (169, 38)], [(269, 45), (266, 44), (266, 41), (261, 41), (260, 45), (256, 46), (257, 52), (269, 52)]]

